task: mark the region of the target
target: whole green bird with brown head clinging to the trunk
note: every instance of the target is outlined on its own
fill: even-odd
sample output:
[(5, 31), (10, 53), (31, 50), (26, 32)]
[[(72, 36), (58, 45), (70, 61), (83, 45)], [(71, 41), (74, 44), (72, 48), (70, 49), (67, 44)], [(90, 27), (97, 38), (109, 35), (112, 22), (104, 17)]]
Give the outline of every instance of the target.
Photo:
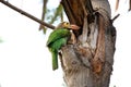
[(62, 46), (67, 45), (71, 37), (70, 29), (79, 29), (79, 26), (71, 25), (68, 22), (62, 22), (55, 28), (55, 30), (49, 35), (47, 40), (47, 47), (52, 55), (52, 70), (58, 69), (58, 51)]

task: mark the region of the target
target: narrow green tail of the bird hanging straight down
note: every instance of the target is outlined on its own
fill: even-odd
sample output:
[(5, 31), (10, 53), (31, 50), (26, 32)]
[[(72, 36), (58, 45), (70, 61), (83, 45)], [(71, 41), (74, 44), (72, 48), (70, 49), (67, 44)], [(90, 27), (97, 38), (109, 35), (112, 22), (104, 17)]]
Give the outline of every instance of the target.
[(58, 69), (58, 51), (50, 49), (50, 52), (52, 54), (52, 70), (55, 71)]

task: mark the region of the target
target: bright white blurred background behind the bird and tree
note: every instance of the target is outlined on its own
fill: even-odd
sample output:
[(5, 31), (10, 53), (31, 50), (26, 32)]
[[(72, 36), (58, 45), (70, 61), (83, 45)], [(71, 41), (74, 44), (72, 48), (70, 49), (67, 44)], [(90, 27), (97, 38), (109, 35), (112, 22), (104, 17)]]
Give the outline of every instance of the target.
[[(41, 18), (43, 0), (8, 0), (15, 7)], [(60, 0), (48, 0), (45, 22), (50, 22)], [(128, 0), (109, 0), (117, 42), (110, 87), (131, 87), (131, 12)], [(49, 15), (49, 16), (48, 16)], [(56, 26), (61, 21), (56, 18)], [(66, 15), (63, 21), (68, 21)], [(64, 87), (62, 70), (51, 70), (51, 54), (46, 47), (51, 29), (38, 30), (39, 24), (0, 3), (0, 87)]]

